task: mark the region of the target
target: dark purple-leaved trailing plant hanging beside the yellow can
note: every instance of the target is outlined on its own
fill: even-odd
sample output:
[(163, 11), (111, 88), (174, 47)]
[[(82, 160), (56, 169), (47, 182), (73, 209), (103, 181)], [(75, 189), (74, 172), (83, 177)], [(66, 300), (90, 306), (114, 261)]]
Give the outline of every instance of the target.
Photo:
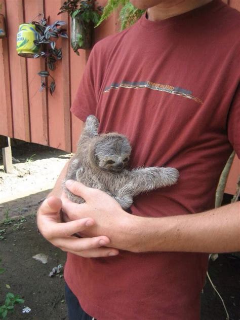
[[(64, 21), (57, 20), (51, 25), (48, 25), (47, 22), (48, 19), (46, 18), (43, 18), (39, 22), (32, 21), (32, 24), (35, 25), (37, 31), (37, 39), (34, 41), (34, 44), (41, 47), (41, 52), (36, 53), (34, 58), (42, 57), (46, 63), (46, 70), (38, 72), (38, 75), (42, 78), (40, 91), (43, 91), (44, 88), (49, 88), (50, 94), (52, 95), (56, 85), (49, 70), (54, 70), (56, 62), (62, 59), (62, 49), (56, 48), (56, 40), (60, 37), (68, 38), (68, 35), (66, 29), (62, 28), (62, 26), (66, 24)], [(49, 76), (52, 78), (52, 82), (48, 87), (46, 79)]]

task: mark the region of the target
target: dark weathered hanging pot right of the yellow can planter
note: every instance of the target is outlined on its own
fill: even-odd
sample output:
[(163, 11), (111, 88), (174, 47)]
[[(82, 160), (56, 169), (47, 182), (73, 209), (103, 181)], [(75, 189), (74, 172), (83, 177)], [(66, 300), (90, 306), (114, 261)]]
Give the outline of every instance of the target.
[(91, 49), (93, 43), (93, 24), (85, 22), (81, 16), (71, 18), (71, 47), (74, 52), (78, 49)]

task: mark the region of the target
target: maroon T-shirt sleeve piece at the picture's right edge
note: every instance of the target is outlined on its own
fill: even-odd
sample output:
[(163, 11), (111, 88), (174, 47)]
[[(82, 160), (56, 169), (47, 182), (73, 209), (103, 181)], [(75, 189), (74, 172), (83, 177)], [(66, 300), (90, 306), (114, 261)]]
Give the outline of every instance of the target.
[(228, 114), (228, 139), (240, 159), (240, 85), (233, 97)]

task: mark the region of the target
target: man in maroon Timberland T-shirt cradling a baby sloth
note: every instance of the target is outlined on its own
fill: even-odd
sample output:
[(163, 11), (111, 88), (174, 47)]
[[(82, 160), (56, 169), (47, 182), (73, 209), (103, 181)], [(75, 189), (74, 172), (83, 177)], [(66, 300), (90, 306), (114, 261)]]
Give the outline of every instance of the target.
[(75, 181), (85, 203), (71, 202), (66, 165), (37, 225), (67, 252), (70, 319), (197, 320), (209, 253), (240, 251), (239, 203), (214, 209), (232, 149), (240, 157), (240, 13), (220, 0), (131, 3), (146, 13), (94, 46), (71, 112), (126, 135), (130, 169), (173, 167), (178, 182), (137, 195), (129, 214)]

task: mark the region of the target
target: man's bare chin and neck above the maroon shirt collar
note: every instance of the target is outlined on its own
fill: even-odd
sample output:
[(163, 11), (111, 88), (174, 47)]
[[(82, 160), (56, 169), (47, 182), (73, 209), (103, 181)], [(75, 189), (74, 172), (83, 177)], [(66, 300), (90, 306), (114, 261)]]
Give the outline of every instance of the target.
[(212, 0), (168, 0), (147, 10), (150, 21), (159, 21), (178, 16), (187, 11), (202, 7)]

